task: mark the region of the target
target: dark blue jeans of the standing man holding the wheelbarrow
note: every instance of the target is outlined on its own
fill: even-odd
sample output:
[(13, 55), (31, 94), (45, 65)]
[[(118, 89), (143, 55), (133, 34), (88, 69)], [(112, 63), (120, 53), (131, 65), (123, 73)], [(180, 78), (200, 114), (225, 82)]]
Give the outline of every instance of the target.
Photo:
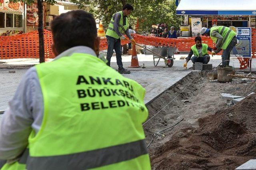
[(108, 42), (108, 52), (107, 52), (107, 60), (108, 63), (107, 65), (110, 66), (110, 59), (113, 55), (113, 50), (116, 51), (116, 63), (118, 65), (118, 68), (122, 68), (123, 67), (123, 63), (122, 63), (122, 47), (121, 47), (121, 40), (110, 37), (110, 36), (106, 36), (107, 38), (107, 42)]

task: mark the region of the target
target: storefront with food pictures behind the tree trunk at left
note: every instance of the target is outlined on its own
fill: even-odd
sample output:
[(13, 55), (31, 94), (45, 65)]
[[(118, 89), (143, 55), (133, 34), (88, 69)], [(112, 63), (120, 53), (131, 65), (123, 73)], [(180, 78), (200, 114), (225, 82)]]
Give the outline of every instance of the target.
[[(43, 3), (44, 28), (50, 29), (50, 22), (54, 17), (78, 9), (78, 5), (65, 1), (56, 1), (56, 4)], [(26, 9), (26, 10), (24, 10)], [(24, 4), (23, 2), (9, 2), (0, 0), (0, 36), (11, 36), (38, 30), (38, 5)]]

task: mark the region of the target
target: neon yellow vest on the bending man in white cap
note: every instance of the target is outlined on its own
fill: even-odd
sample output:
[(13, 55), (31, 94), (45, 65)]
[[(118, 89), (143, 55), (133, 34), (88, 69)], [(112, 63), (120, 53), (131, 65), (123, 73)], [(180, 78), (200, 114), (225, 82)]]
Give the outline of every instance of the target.
[(236, 32), (231, 30), (228, 27), (225, 26), (215, 26), (211, 28), (210, 37), (214, 41), (214, 43), (217, 43), (218, 38), (212, 36), (213, 31), (218, 31), (219, 34), (223, 37), (222, 43), (220, 45), (221, 49), (226, 49), (228, 47), (228, 44), (231, 42), (232, 38), (236, 36)]

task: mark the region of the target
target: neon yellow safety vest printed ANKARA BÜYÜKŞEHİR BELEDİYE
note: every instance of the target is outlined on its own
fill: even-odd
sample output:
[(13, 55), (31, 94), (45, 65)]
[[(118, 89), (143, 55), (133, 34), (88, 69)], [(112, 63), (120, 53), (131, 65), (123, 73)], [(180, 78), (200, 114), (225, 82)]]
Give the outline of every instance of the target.
[(58, 164), (78, 170), (150, 169), (141, 85), (83, 53), (36, 65), (36, 71), (44, 117), (28, 139), (28, 170), (55, 170)]

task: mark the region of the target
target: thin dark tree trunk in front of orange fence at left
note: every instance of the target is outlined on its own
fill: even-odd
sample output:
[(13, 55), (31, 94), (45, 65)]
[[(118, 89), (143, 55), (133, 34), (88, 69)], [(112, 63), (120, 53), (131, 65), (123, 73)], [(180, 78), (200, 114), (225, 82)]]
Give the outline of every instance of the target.
[(38, 36), (39, 36), (39, 62), (44, 62), (44, 11), (43, 3), (41, 0), (37, 0), (38, 5)]

